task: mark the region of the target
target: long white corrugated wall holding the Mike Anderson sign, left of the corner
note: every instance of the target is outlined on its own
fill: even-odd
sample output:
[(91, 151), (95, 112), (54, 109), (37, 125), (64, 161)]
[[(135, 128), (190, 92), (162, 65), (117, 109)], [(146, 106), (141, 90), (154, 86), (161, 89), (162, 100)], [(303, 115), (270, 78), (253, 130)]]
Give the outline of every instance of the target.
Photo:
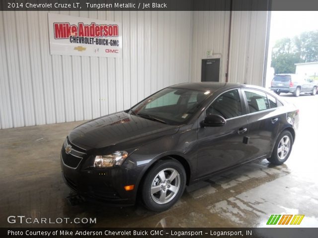
[(190, 81), (192, 12), (55, 12), (122, 22), (123, 58), (51, 56), (45, 11), (0, 11), (0, 128), (97, 118)]

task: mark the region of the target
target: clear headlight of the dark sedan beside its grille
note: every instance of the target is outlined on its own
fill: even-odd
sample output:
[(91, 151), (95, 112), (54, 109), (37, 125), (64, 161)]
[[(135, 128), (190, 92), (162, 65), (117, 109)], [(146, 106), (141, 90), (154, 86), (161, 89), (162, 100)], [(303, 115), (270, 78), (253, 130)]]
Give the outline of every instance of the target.
[(105, 168), (113, 167), (115, 165), (120, 166), (128, 157), (126, 151), (116, 151), (110, 155), (97, 155), (94, 161), (94, 167)]

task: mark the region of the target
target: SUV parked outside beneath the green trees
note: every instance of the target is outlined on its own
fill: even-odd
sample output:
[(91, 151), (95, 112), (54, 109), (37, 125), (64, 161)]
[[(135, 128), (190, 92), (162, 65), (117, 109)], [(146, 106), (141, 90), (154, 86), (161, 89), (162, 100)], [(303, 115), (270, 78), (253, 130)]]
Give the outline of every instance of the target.
[(315, 82), (298, 74), (276, 74), (270, 89), (278, 95), (280, 93), (293, 93), (296, 97), (301, 93), (311, 93), (312, 95), (317, 93)]

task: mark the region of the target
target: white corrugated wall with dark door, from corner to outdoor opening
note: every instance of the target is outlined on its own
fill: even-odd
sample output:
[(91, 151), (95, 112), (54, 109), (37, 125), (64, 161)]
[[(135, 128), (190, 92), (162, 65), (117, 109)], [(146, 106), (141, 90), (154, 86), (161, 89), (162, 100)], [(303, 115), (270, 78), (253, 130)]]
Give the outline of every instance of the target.
[[(262, 85), (267, 11), (233, 11), (229, 82)], [(196, 11), (193, 14), (192, 80), (201, 81), (202, 59), (221, 58), (220, 81), (225, 82), (230, 11)], [(206, 52), (212, 51), (207, 57)]]

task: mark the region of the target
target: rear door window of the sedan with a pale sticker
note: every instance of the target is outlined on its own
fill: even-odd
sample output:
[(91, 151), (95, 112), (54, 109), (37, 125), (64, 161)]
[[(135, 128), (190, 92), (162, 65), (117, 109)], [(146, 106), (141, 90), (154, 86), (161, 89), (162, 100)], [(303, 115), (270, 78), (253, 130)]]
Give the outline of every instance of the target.
[(266, 93), (258, 90), (244, 90), (249, 113), (260, 112), (269, 109)]

